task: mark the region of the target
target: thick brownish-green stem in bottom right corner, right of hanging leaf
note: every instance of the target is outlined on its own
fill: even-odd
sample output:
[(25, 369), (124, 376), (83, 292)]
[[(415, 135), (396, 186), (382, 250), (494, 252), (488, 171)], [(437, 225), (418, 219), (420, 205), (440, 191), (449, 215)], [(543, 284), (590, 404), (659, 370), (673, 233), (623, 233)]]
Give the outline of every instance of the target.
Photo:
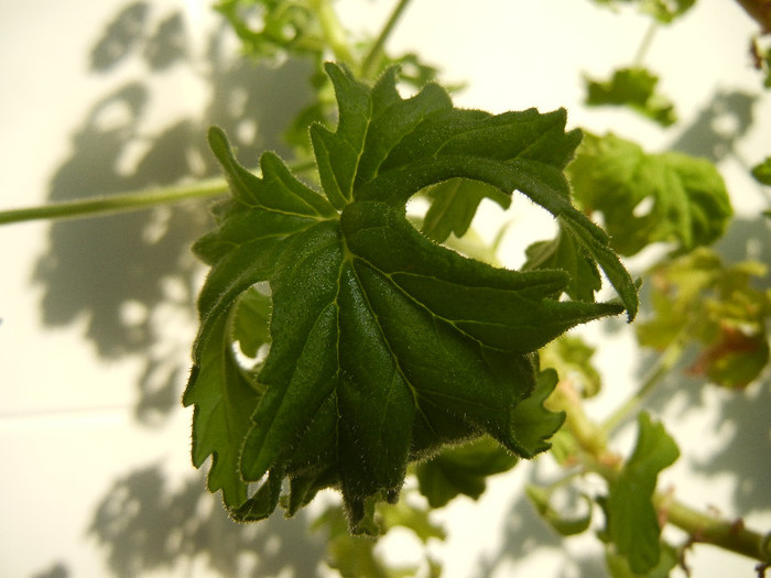
[(741, 519), (719, 520), (655, 493), (653, 503), (666, 514), (666, 521), (683, 530), (694, 543), (712, 544), (759, 561), (771, 563), (771, 534), (748, 530)]

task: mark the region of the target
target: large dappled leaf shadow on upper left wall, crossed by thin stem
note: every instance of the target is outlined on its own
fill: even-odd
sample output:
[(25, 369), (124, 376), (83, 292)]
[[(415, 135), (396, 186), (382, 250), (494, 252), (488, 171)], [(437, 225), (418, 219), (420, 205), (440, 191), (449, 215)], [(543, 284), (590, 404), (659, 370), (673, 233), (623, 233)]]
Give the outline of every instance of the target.
[[(191, 175), (217, 176), (219, 167), (206, 142), (213, 123), (229, 133), (247, 166), (254, 166), (264, 149), (290, 153), (281, 133), (311, 99), (310, 63), (286, 61), (269, 67), (234, 58), (224, 46), (221, 30), (213, 32), (203, 57), (193, 57), (183, 15), (166, 14), (156, 25), (152, 17), (149, 2), (129, 4), (95, 44), (94, 74), (109, 77), (138, 59), (148, 74), (93, 105), (72, 137), (72, 154), (51, 179), (50, 201), (172, 185)], [(158, 83), (172, 66), (195, 75), (207, 101), (193, 117), (148, 127), (149, 109), (178, 99)], [(53, 222), (47, 249), (34, 270), (45, 325), (84, 323), (99, 357), (132, 355), (145, 360), (137, 402), (137, 416), (145, 423), (158, 422), (176, 407), (180, 378), (188, 369), (186, 360), (171, 361), (173, 356), (156, 349), (163, 349), (167, 338), (162, 310), (174, 306), (184, 312), (183, 326), (195, 323), (200, 265), (189, 247), (211, 226), (206, 207), (188, 201)], [(193, 337), (186, 337), (188, 343)]]

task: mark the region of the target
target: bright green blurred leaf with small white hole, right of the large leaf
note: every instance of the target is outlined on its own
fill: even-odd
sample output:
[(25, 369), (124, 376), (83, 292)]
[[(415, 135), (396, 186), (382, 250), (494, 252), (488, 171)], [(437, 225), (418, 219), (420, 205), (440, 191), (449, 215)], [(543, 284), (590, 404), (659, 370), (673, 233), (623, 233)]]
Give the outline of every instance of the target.
[(732, 215), (712, 163), (674, 152), (647, 154), (613, 134), (586, 135), (568, 174), (576, 200), (602, 214), (613, 248), (627, 255), (655, 242), (673, 243), (674, 252), (709, 244)]

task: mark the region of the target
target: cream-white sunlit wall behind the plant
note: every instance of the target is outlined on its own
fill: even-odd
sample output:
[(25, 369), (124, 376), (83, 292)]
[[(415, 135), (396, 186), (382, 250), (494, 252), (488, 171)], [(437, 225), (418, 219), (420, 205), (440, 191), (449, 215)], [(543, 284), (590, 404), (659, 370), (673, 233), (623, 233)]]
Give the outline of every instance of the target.
[[(338, 6), (351, 29), (374, 31), (391, 3)], [(745, 218), (724, 249), (771, 261), (768, 229), (754, 218), (767, 199), (746, 176), (746, 164), (771, 151), (771, 100), (747, 55), (752, 22), (734, 2), (703, 0), (658, 34), (645, 64), (676, 99), (684, 122), (675, 132), (580, 105), (580, 74), (605, 76), (629, 63), (645, 29), (632, 13), (588, 1), (415, 0), (391, 46), (419, 51), (444, 79), (467, 83), (461, 106), (566, 107), (572, 127), (710, 156)], [(0, 208), (216, 174), (204, 137), (211, 123), (235, 137), (245, 164), (265, 148), (281, 152), (279, 131), (307, 98), (307, 66), (254, 67), (234, 51), (203, 1), (0, 2)], [(482, 218), (520, 226), (506, 244), (504, 258), (515, 263), (524, 238), (546, 237), (550, 223), (524, 201), (512, 210), (486, 207)], [(191, 412), (178, 399), (204, 272), (187, 248), (207, 227), (204, 207), (191, 203), (0, 228), (3, 576), (323, 574), (322, 536), (306, 532), (305, 515), (235, 526), (189, 465)], [(758, 231), (764, 240), (748, 248)], [(611, 385), (591, 407), (602, 415), (633, 386), (642, 361), (629, 357), (622, 327), (587, 335), (602, 343), (599, 363)], [(751, 390), (748, 404), (672, 383), (651, 400), (674, 418), (681, 446), (695, 448), (666, 473), (692, 505), (729, 516), (756, 508), (748, 522), (771, 523), (762, 482), (771, 452), (731, 449), (768, 439), (768, 390)], [(742, 425), (721, 421), (731, 412)], [(746, 480), (730, 476), (735, 462), (747, 468)], [(450, 538), (432, 548), (447, 577), (601, 576), (590, 542), (562, 549), (521, 500), (523, 483), (542, 468), (518, 467), (495, 478), (480, 502), (458, 500), (439, 513)], [(383, 547), (409, 558), (402, 538)], [(752, 574), (750, 560), (708, 547), (697, 547), (692, 561), (696, 577)]]

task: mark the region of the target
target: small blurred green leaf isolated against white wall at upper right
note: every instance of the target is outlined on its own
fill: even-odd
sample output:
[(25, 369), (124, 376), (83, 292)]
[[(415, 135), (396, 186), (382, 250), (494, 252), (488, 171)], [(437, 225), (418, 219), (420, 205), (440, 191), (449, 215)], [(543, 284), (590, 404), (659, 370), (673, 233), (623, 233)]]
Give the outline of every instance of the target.
[(674, 105), (655, 91), (659, 77), (647, 68), (620, 68), (609, 80), (584, 77), (586, 83), (586, 105), (627, 106), (663, 127), (677, 120)]

